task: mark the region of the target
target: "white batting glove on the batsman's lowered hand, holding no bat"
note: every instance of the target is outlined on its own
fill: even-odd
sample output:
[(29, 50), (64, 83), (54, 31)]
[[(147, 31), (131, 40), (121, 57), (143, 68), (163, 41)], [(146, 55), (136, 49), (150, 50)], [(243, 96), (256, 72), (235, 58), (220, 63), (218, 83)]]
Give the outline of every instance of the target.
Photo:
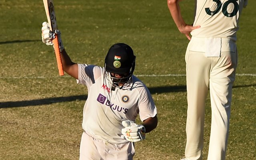
[(122, 121), (125, 127), (122, 129), (124, 138), (130, 142), (139, 142), (146, 138), (146, 129), (143, 125), (136, 124), (130, 120)]

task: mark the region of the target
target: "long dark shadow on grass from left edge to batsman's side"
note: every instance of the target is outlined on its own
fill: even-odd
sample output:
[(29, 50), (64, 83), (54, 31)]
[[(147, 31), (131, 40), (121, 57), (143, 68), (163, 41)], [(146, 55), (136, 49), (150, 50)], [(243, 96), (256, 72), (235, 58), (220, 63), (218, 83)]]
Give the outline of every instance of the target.
[(15, 102), (0, 102), (0, 108), (13, 108), (13, 107), (26, 107), (26, 106), (39, 106), (46, 104), (53, 104), (59, 102), (70, 102), (75, 100), (86, 100), (86, 95), (56, 97), (56, 98), (44, 98), (38, 100), (22, 100)]

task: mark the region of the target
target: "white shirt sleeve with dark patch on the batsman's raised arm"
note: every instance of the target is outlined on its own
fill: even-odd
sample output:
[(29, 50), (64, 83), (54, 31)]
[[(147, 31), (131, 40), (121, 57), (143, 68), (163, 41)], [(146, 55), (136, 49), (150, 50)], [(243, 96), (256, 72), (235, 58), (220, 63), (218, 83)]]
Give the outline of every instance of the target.
[(103, 74), (103, 68), (89, 64), (78, 64), (77, 84), (91, 86)]

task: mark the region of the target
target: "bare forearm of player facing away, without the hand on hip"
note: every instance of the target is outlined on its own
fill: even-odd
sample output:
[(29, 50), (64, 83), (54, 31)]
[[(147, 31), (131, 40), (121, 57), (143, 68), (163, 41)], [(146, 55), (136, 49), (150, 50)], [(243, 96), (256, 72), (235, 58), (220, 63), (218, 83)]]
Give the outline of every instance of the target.
[(174, 23), (176, 24), (178, 30), (182, 32), (183, 28), (185, 28), (186, 26), (186, 23), (181, 16), (180, 6), (178, 2), (179, 0), (168, 0), (167, 4)]

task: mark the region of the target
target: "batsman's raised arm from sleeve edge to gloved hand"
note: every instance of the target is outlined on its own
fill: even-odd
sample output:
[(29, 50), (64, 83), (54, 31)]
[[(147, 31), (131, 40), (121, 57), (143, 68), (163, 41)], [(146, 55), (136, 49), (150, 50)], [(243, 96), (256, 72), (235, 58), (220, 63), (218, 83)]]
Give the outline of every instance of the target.
[(44, 22), (42, 24), (42, 42), (44, 42), (46, 45), (53, 45), (52, 40), (54, 39), (54, 36), (56, 34), (58, 34), (58, 44), (61, 52), (60, 56), (62, 60), (63, 70), (70, 76), (78, 79), (78, 65), (71, 61), (66, 50), (64, 49), (60, 36), (60, 31), (55, 30), (54, 32), (51, 32), (49, 24), (47, 22)]

